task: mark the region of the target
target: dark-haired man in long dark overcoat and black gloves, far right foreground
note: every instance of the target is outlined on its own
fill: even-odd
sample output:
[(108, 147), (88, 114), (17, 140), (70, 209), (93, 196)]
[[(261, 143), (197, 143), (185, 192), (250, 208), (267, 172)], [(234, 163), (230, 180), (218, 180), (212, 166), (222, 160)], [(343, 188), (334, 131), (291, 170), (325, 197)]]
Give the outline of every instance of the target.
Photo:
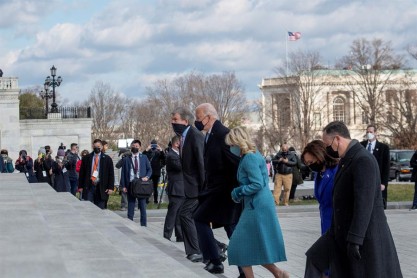
[(332, 277), (402, 277), (375, 157), (351, 140), (343, 122), (328, 124), (323, 141), (326, 151), (341, 159), (334, 180), (332, 224), (318, 240), (325, 244), (316, 242), (307, 251), (305, 277), (313, 277), (309, 275), (313, 266), (320, 271), (330, 268)]

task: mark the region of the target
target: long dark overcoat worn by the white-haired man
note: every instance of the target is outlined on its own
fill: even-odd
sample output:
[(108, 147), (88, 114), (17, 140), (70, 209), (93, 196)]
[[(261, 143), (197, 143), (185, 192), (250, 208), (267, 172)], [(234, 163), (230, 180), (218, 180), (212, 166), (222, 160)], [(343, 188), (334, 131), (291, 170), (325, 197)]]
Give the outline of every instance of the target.
[(198, 200), (194, 219), (211, 222), (214, 228), (236, 224), (242, 206), (233, 202), (231, 192), (238, 186), (240, 158), (230, 152), (225, 138), (229, 129), (215, 121), (204, 146), (205, 183)]

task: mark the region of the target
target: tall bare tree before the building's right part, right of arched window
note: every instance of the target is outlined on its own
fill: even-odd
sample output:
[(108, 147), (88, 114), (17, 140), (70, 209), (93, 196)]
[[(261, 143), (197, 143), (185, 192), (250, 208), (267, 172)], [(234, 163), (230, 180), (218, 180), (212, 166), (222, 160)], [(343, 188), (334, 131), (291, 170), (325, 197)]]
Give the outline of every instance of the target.
[(351, 70), (349, 87), (355, 102), (368, 122), (376, 124), (384, 111), (386, 87), (395, 81), (393, 73), (403, 67), (403, 58), (394, 53), (390, 41), (361, 38), (336, 66)]

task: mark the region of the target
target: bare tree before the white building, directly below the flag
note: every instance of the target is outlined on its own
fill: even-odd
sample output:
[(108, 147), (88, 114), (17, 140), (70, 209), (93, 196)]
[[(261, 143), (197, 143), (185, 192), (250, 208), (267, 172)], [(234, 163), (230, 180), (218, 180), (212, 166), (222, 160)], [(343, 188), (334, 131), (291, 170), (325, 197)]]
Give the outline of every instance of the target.
[(262, 109), (263, 136), (271, 144), (269, 149), (276, 149), (278, 142), (303, 148), (321, 130), (324, 118), (320, 97), (327, 71), (321, 66), (319, 52), (290, 53), (288, 70), (283, 65), (277, 68), (275, 92)]

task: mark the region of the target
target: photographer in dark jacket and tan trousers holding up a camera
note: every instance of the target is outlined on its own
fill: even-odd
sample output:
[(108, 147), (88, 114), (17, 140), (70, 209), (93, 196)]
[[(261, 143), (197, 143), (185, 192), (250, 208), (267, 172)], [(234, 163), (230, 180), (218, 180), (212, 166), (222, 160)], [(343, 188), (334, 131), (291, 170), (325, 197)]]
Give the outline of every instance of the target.
[(288, 151), (288, 145), (283, 144), (281, 151), (272, 159), (272, 164), (275, 169), (274, 177), (274, 199), (275, 204), (278, 206), (280, 202), (280, 196), (282, 186), (284, 186), (284, 194), (282, 200), (284, 206), (288, 206), (288, 200), (290, 198), (290, 190), (292, 186), (292, 168), (297, 164), (297, 158), (293, 153)]

